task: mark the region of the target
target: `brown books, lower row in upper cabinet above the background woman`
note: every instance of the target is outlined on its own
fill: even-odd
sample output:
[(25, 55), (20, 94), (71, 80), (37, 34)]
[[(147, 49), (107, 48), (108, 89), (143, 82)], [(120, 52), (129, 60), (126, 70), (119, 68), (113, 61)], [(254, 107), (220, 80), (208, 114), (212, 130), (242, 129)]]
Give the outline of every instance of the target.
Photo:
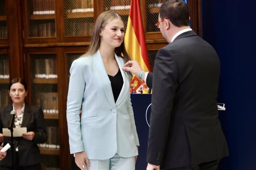
[(55, 37), (55, 22), (32, 23), (30, 37)]

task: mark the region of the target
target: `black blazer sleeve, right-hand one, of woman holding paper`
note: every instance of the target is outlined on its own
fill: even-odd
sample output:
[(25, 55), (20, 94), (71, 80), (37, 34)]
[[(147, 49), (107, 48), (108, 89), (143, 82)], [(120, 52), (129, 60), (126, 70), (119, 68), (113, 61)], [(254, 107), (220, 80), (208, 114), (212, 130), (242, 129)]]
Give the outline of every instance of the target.
[(44, 143), (46, 142), (46, 130), (45, 130), (45, 119), (43, 118), (43, 110), (42, 108), (37, 109), (34, 113), (36, 120), (36, 129), (34, 131), (35, 143)]

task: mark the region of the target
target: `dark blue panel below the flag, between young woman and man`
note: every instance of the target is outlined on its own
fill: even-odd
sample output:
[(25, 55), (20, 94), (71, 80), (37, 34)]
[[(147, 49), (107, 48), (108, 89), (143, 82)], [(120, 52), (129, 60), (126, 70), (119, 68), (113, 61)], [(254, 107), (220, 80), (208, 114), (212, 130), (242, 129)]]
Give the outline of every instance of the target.
[[(147, 147), (148, 147), (148, 124), (146, 121), (146, 110), (151, 104), (151, 94), (131, 94), (132, 108), (136, 123), (137, 133), (140, 140), (139, 155), (135, 165), (136, 170), (145, 170), (147, 168)], [(147, 118), (151, 113), (151, 106), (148, 108)]]

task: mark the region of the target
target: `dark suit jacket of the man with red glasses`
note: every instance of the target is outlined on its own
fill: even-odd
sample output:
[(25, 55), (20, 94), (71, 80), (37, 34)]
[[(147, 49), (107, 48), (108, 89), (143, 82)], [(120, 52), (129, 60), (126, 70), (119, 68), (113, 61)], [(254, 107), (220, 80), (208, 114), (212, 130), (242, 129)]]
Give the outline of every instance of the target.
[(148, 163), (171, 169), (228, 156), (216, 101), (219, 75), (216, 51), (194, 31), (157, 52)]

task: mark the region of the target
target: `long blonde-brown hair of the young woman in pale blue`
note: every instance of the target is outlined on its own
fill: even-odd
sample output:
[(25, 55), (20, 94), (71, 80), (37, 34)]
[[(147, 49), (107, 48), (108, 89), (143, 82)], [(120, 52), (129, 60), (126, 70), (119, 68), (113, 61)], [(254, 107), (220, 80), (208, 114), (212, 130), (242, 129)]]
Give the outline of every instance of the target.
[[(99, 50), (99, 45), (101, 44), (101, 38), (99, 34), (101, 33), (101, 30), (104, 30), (106, 24), (114, 19), (121, 19), (124, 22), (122, 17), (114, 11), (105, 11), (99, 15), (93, 29), (91, 44), (88, 48), (88, 51), (81, 57), (94, 54)], [(123, 57), (125, 62), (131, 60), (131, 57), (125, 49), (124, 41), (119, 47), (115, 48), (115, 54), (119, 57)]]

